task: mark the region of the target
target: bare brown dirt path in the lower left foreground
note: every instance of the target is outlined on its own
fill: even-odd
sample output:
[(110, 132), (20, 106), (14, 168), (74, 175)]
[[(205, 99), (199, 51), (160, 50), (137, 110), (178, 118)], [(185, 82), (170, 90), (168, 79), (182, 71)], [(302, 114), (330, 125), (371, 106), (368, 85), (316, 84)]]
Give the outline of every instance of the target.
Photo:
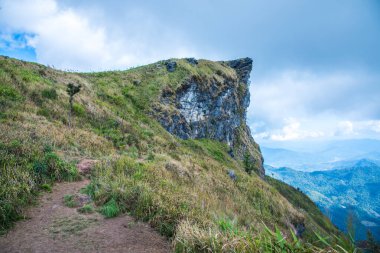
[(63, 197), (88, 183), (60, 183), (44, 194), (39, 206), (27, 211), (29, 219), (0, 237), (0, 252), (170, 252), (165, 238), (130, 216), (105, 219), (66, 207)]

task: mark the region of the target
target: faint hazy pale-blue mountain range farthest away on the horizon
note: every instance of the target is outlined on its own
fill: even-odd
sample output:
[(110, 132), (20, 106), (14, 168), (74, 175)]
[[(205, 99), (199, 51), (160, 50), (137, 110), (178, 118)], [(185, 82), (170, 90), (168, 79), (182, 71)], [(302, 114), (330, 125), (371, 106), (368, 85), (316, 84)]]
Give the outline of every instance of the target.
[(336, 169), (360, 159), (380, 163), (379, 150), (380, 141), (371, 139), (289, 142), (280, 148), (261, 147), (265, 164), (301, 171)]

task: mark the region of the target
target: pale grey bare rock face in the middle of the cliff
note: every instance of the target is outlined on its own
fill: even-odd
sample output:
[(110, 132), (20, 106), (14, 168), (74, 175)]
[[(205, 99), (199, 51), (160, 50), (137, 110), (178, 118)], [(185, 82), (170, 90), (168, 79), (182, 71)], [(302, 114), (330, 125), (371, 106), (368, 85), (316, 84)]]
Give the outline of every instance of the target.
[(179, 113), (169, 120), (162, 119), (161, 124), (182, 139), (211, 138), (232, 147), (233, 129), (245, 123), (245, 114), (241, 115), (236, 103), (239, 98), (234, 92), (235, 85), (231, 83), (223, 89), (219, 85), (215, 81), (205, 92), (199, 81), (190, 80), (177, 91), (175, 104)]

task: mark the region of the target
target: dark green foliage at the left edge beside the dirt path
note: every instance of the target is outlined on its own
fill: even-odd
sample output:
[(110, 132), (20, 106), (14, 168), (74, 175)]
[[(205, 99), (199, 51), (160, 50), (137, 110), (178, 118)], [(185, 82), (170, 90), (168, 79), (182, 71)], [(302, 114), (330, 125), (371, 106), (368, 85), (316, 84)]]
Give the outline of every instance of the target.
[(23, 217), (23, 208), (38, 190), (50, 191), (56, 180), (79, 177), (74, 166), (51, 150), (45, 151), (19, 140), (0, 142), (0, 231)]

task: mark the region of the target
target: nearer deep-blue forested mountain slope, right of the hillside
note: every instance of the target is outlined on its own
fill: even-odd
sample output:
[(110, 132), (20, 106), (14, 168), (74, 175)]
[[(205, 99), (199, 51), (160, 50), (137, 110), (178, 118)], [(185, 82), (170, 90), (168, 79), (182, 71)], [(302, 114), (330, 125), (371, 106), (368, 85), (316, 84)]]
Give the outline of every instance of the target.
[(380, 166), (362, 159), (327, 171), (302, 172), (266, 166), (267, 174), (305, 192), (340, 229), (356, 216), (356, 239), (370, 230), (380, 239)]

